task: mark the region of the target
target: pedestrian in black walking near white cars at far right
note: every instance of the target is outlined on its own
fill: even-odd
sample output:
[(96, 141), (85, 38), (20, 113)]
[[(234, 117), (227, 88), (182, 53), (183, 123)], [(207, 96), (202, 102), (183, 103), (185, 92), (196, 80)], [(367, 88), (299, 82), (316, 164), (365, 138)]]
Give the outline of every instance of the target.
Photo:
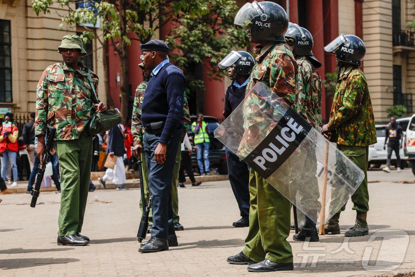
[[(389, 138), (389, 141), (388, 141)], [(400, 172), (400, 156), (399, 149), (402, 148), (403, 144), (403, 132), (402, 128), (396, 124), (396, 118), (391, 117), (391, 122), (386, 126), (385, 132), (385, 144), (383, 144), (383, 150), (386, 148), (388, 143), (388, 158), (386, 160), (386, 167), (382, 168), (383, 171), (391, 172), (391, 157), (392, 152), (396, 154), (396, 172)]]

